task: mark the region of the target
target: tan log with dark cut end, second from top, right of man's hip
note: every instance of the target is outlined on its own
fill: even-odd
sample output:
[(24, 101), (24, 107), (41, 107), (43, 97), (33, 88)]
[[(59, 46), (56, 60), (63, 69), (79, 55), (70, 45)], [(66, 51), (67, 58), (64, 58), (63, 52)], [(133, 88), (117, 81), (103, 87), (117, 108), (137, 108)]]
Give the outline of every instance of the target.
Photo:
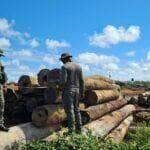
[(116, 100), (120, 93), (117, 90), (88, 90), (85, 91), (85, 99), (89, 105), (97, 105), (103, 102)]

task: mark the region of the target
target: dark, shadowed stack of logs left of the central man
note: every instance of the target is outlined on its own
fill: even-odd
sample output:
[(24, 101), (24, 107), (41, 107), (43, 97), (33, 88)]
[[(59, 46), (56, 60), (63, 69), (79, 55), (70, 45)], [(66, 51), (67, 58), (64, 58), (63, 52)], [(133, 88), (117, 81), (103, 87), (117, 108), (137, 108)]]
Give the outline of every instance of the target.
[(60, 69), (42, 69), (37, 77), (22, 75), (17, 84), (4, 89), (5, 118), (8, 125), (31, 121), (39, 106), (61, 103)]

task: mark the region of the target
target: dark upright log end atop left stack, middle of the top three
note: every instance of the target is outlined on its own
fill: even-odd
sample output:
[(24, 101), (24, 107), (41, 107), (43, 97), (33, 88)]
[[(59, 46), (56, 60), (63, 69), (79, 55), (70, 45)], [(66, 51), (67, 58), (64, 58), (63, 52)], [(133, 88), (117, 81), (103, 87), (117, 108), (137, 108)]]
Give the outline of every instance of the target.
[(39, 83), (40, 86), (47, 86), (49, 72), (50, 72), (49, 69), (42, 69), (37, 74), (38, 83)]

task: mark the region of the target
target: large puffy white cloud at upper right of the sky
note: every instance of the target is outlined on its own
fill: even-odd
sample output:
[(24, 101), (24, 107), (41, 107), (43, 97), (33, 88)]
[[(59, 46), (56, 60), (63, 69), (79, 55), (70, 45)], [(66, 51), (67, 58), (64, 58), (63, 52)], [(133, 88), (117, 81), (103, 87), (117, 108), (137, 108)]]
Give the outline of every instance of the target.
[(107, 25), (102, 33), (95, 33), (89, 37), (90, 45), (108, 48), (120, 42), (135, 42), (140, 38), (140, 27), (131, 25), (128, 29), (123, 26), (118, 29)]

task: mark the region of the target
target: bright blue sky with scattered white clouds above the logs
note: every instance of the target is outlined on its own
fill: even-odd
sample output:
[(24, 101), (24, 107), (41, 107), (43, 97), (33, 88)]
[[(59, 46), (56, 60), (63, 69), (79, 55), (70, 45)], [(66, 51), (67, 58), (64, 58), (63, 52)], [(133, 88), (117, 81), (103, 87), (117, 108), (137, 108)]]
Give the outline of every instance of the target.
[(150, 80), (148, 0), (0, 0), (0, 48), (9, 81), (60, 68), (63, 52), (84, 75)]

